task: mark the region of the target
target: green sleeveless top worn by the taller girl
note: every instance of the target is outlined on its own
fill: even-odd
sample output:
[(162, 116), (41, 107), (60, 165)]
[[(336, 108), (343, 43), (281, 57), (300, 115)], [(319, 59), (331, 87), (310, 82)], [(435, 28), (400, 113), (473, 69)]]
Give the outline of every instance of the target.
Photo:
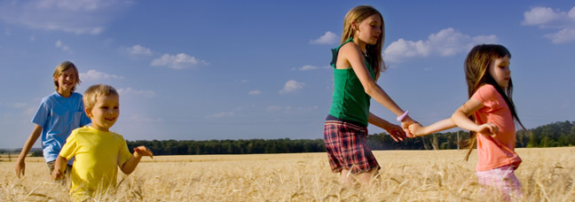
[[(353, 38), (350, 38), (345, 43), (350, 43)], [(333, 58), (330, 63), (334, 67), (334, 97), (332, 101), (329, 115), (334, 116), (340, 120), (351, 120), (364, 123), (367, 126), (367, 117), (369, 116), (369, 100), (371, 97), (366, 94), (366, 90), (359, 82), (358, 75), (353, 72), (353, 68), (337, 69), (335, 62), (337, 55), (343, 44), (337, 48), (332, 49)], [(367, 63), (364, 58), (367, 70), (372, 79), (375, 79), (374, 69)]]

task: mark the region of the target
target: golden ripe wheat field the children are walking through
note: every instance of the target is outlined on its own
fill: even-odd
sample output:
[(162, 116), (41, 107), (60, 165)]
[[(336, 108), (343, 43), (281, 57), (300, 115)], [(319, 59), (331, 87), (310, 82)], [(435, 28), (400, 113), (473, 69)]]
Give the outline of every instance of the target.
[[(343, 185), (326, 153), (159, 156), (119, 175), (112, 201), (492, 201), (479, 190), (465, 151), (374, 151), (382, 169), (368, 187)], [(525, 201), (575, 200), (575, 147), (517, 149)], [(43, 158), (28, 158), (26, 177), (0, 159), (0, 201), (67, 201)]]

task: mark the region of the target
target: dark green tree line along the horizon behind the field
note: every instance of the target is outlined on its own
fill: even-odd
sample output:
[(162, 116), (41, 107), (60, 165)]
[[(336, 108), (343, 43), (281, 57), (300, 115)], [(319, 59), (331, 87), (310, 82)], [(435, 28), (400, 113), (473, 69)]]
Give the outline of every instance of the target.
[[(319, 136), (321, 136), (319, 134)], [(467, 131), (435, 133), (395, 142), (386, 133), (367, 136), (367, 144), (372, 150), (445, 150), (458, 149), (461, 142), (469, 137)], [(248, 140), (136, 140), (127, 141), (130, 151), (138, 145), (145, 145), (155, 155), (193, 154), (250, 154), (250, 153), (297, 153), (324, 152), (323, 139), (248, 139)], [(556, 147), (575, 145), (575, 121), (550, 123), (528, 131), (516, 132), (516, 147)], [(0, 150), (20, 152), (20, 150)], [(42, 151), (33, 151), (41, 156)]]

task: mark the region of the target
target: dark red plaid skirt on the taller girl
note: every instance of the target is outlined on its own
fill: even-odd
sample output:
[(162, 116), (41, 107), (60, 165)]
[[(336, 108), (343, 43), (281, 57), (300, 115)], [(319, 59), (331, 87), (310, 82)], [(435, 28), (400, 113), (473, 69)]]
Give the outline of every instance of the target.
[(367, 147), (366, 139), (367, 127), (339, 120), (326, 120), (324, 141), (332, 172), (338, 173), (347, 169), (351, 174), (358, 174), (380, 169), (374, 153)]

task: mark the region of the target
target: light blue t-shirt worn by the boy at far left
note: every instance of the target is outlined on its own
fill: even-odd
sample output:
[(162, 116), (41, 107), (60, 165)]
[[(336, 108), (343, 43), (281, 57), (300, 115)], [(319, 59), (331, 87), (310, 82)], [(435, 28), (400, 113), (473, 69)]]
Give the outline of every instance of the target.
[[(32, 122), (42, 127), (42, 150), (46, 162), (55, 160), (73, 129), (91, 123), (84, 111), (82, 95), (73, 92), (62, 97), (58, 92), (43, 97)], [(71, 159), (68, 164), (74, 161)]]

